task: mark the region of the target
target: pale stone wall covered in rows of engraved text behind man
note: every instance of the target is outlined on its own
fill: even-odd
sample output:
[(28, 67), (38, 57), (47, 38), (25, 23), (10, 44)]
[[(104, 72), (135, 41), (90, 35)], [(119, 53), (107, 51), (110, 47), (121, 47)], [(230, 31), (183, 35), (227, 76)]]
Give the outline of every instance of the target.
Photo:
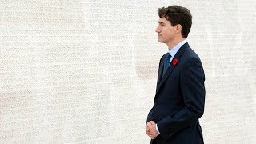
[(256, 143), (254, 0), (0, 0), (0, 143), (148, 143), (172, 4), (194, 16), (206, 144)]

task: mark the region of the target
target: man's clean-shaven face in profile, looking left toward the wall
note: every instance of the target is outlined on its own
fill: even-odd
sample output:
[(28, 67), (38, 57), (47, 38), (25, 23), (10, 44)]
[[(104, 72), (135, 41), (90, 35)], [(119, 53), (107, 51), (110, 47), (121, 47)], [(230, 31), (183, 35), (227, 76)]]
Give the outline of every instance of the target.
[(172, 42), (176, 37), (177, 26), (171, 26), (170, 21), (162, 17), (158, 20), (158, 27), (155, 32), (158, 33), (158, 42), (167, 44)]

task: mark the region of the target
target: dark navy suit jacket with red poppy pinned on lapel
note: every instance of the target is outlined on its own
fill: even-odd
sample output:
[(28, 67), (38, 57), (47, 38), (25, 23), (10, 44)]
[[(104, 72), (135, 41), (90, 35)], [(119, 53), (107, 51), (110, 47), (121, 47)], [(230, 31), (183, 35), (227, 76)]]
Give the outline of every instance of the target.
[[(147, 121), (154, 121), (161, 133), (152, 144), (202, 144), (198, 119), (205, 104), (205, 74), (198, 54), (186, 42), (162, 75), (164, 54), (159, 63), (154, 106)], [(174, 62), (176, 61), (176, 62)]]

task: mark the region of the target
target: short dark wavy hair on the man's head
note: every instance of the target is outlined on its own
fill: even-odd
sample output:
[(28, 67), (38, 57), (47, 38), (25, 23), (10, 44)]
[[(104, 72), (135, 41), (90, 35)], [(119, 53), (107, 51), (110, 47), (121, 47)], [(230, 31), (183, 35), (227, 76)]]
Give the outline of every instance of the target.
[(170, 21), (171, 26), (180, 24), (182, 26), (182, 37), (187, 38), (192, 26), (192, 15), (190, 10), (182, 6), (168, 6), (158, 9), (158, 15), (160, 18), (165, 17)]

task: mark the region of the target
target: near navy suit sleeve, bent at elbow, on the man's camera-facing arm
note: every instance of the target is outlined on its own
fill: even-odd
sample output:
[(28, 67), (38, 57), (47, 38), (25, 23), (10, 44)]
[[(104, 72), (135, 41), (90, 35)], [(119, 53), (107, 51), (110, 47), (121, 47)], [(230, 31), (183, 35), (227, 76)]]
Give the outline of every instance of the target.
[(180, 85), (184, 107), (177, 114), (158, 122), (163, 138), (170, 138), (179, 130), (194, 124), (202, 117), (205, 104), (205, 75), (199, 58), (190, 58), (181, 71)]

